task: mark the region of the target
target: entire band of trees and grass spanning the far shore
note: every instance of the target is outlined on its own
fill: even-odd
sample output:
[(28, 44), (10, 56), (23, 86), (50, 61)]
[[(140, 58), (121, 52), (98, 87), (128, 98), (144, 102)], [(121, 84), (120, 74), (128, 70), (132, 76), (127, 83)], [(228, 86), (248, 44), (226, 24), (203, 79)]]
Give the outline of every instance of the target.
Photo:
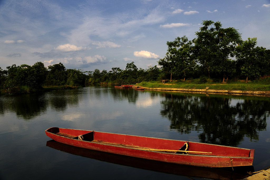
[[(204, 89), (207, 85), (219, 90), (269, 91), (270, 50), (258, 47), (257, 38), (242, 40), (237, 29), (222, 28), (219, 21), (203, 21), (195, 35), (192, 40), (183, 36), (168, 41), (166, 56), (157, 61), (158, 66), (148, 69), (137, 68), (134, 62), (127, 63), (125, 69), (85, 72), (66, 69), (62, 63), (48, 68), (42, 62), (32, 66), (14, 64), (6, 70), (0, 67), (0, 89), (7, 94), (21, 94), (44, 91), (44, 87), (140, 83), (146, 87)], [(169, 83), (160, 83), (162, 80)]]

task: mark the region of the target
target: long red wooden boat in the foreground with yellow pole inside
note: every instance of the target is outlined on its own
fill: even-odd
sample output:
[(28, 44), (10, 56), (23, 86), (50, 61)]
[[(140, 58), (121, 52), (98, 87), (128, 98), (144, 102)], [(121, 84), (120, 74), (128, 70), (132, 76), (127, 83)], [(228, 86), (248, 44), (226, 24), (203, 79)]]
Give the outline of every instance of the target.
[(251, 166), (254, 149), (78, 129), (49, 128), (53, 140), (80, 148), (205, 167)]

